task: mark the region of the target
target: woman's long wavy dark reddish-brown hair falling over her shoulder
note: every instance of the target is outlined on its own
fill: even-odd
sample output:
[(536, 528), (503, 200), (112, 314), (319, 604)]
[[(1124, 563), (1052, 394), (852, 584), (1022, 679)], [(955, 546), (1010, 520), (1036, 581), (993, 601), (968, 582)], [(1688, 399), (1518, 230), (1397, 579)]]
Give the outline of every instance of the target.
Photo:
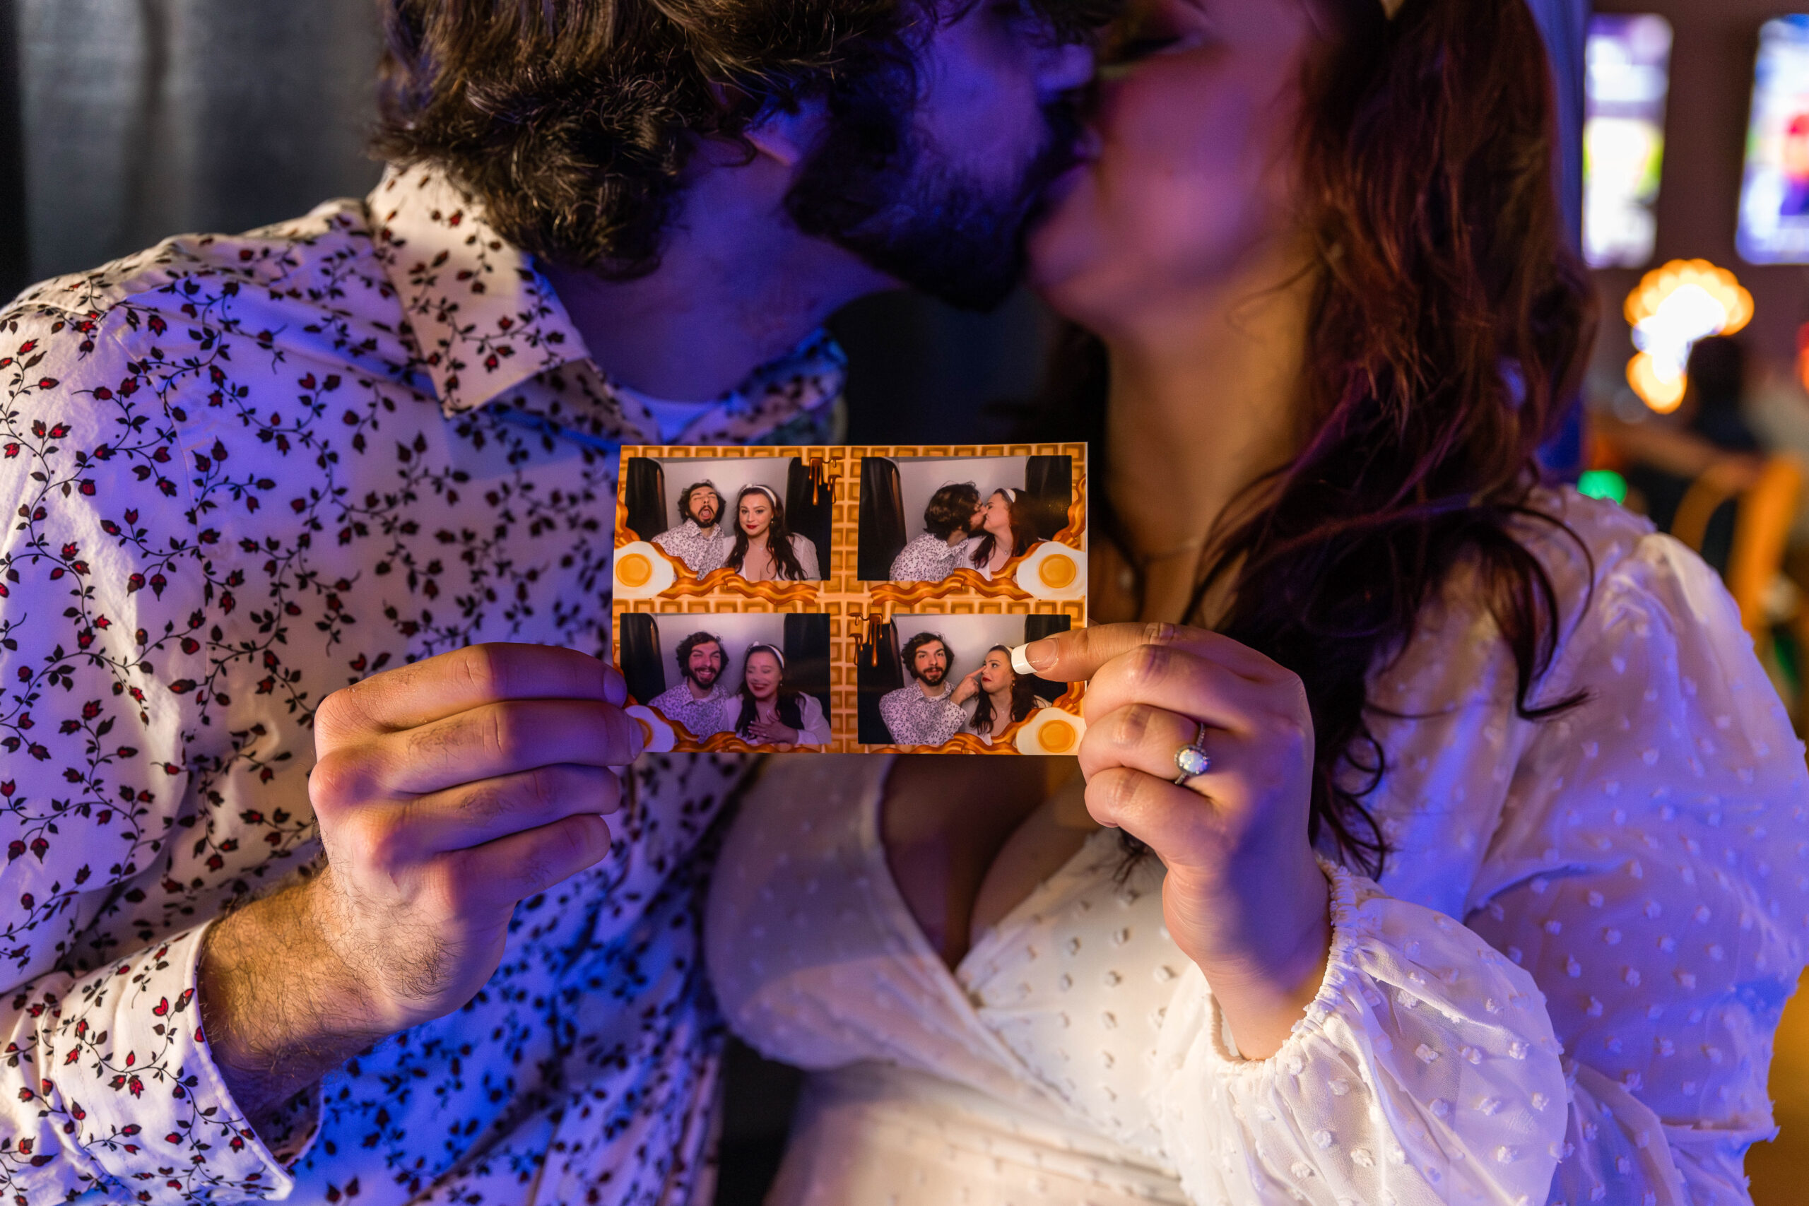
[[(1322, 269), (1302, 452), (1230, 508), (1201, 600), (1236, 575), (1219, 631), (1299, 674), (1313, 711), (1313, 841), (1380, 873), (1364, 806), (1386, 772), (1371, 673), (1398, 656), (1460, 566), (1518, 674), (1523, 718), (1558, 642), (1558, 598), (1516, 528), (1536, 454), (1563, 423), (1594, 300), (1563, 233), (1545, 43), (1525, 0), (1302, 0), (1335, 29), (1308, 65), (1299, 183)], [(1103, 432), (1103, 351), (1076, 340), (1051, 380)], [(1111, 515), (1107, 533), (1111, 533)], [(1568, 530), (1565, 530), (1568, 532)], [(1120, 546), (1123, 542), (1120, 541)], [(1585, 550), (1586, 551), (1586, 550)]]

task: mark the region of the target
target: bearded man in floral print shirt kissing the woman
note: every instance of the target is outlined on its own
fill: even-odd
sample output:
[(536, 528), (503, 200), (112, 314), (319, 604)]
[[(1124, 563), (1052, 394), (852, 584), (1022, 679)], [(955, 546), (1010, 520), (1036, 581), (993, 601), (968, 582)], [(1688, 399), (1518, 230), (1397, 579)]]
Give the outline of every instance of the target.
[(369, 201), (0, 313), (9, 1199), (707, 1201), (743, 763), (615, 776), (610, 448), (819, 441), (834, 307), (1008, 287), (1033, 16), (387, 0)]

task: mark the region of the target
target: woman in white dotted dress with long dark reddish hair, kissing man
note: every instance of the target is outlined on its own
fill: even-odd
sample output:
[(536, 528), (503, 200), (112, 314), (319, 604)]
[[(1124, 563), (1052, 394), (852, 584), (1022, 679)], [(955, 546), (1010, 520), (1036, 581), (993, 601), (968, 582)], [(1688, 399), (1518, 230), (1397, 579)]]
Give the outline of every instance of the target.
[(749, 794), (711, 973), (816, 1069), (769, 1204), (1747, 1201), (1809, 774), (1713, 573), (1539, 485), (1590, 315), (1525, 5), (1140, 0), (1116, 60), (1031, 257), (1143, 624), (1018, 651), (1084, 785)]

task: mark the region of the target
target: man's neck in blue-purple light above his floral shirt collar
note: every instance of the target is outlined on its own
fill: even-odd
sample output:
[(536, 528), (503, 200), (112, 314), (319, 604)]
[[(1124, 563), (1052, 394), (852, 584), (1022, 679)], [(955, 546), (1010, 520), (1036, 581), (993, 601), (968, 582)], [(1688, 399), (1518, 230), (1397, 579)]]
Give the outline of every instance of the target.
[(852, 253), (798, 231), (791, 175), (767, 155), (704, 146), (658, 268), (635, 280), (541, 264), (613, 380), (666, 401), (713, 401), (783, 356), (836, 309), (895, 287)]

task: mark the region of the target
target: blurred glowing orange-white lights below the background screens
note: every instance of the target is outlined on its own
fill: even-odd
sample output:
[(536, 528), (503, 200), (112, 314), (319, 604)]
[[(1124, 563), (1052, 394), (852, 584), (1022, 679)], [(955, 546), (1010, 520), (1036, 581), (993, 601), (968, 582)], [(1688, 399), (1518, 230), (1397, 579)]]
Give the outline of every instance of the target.
[(1682, 405), (1690, 349), (1711, 334), (1733, 334), (1753, 320), (1753, 295), (1726, 268), (1708, 260), (1672, 260), (1644, 275), (1626, 295), (1626, 322), (1639, 354), (1626, 383), (1652, 410)]

